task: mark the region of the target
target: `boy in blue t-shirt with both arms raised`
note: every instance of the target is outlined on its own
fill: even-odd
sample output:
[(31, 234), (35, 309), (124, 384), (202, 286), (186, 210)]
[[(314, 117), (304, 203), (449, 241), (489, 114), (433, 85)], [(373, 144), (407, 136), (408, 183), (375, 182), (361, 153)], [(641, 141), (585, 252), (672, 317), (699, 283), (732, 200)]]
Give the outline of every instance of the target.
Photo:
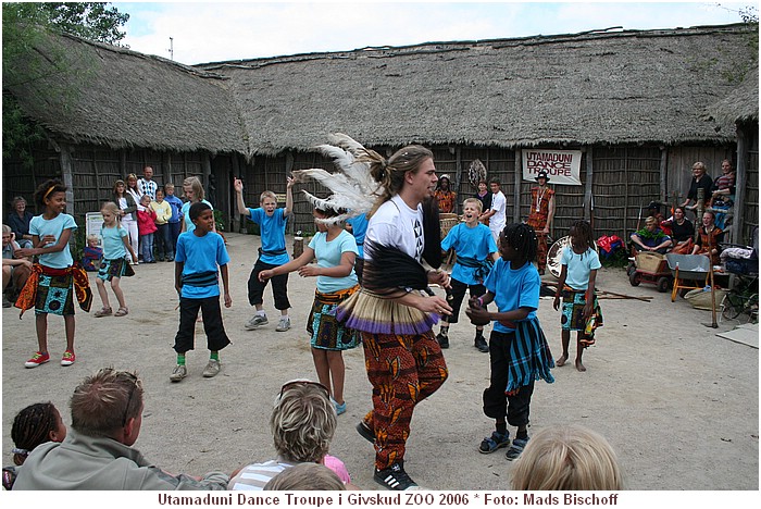
[[(284, 265), (290, 261), (285, 247), (285, 228), (294, 209), (294, 195), (291, 187), (296, 181), (288, 177), (286, 182), (286, 206), (277, 208), (277, 197), (274, 193), (265, 190), (259, 198), (259, 207), (249, 209), (244, 201), (244, 183), (240, 178), (234, 182), (235, 193), (238, 197), (238, 212), (257, 223), (261, 231), (262, 247), (259, 249), (259, 258), (253, 265), (248, 278), (248, 301), (257, 308), (257, 314), (246, 323), (246, 328), (254, 331), (269, 323), (264, 312), (264, 288), (267, 281), (259, 281), (259, 273)], [(280, 321), (275, 331), (285, 332), (290, 328), (288, 309), (288, 274), (280, 274), (272, 278), (272, 296), (275, 299), (275, 309), (280, 311)]]

